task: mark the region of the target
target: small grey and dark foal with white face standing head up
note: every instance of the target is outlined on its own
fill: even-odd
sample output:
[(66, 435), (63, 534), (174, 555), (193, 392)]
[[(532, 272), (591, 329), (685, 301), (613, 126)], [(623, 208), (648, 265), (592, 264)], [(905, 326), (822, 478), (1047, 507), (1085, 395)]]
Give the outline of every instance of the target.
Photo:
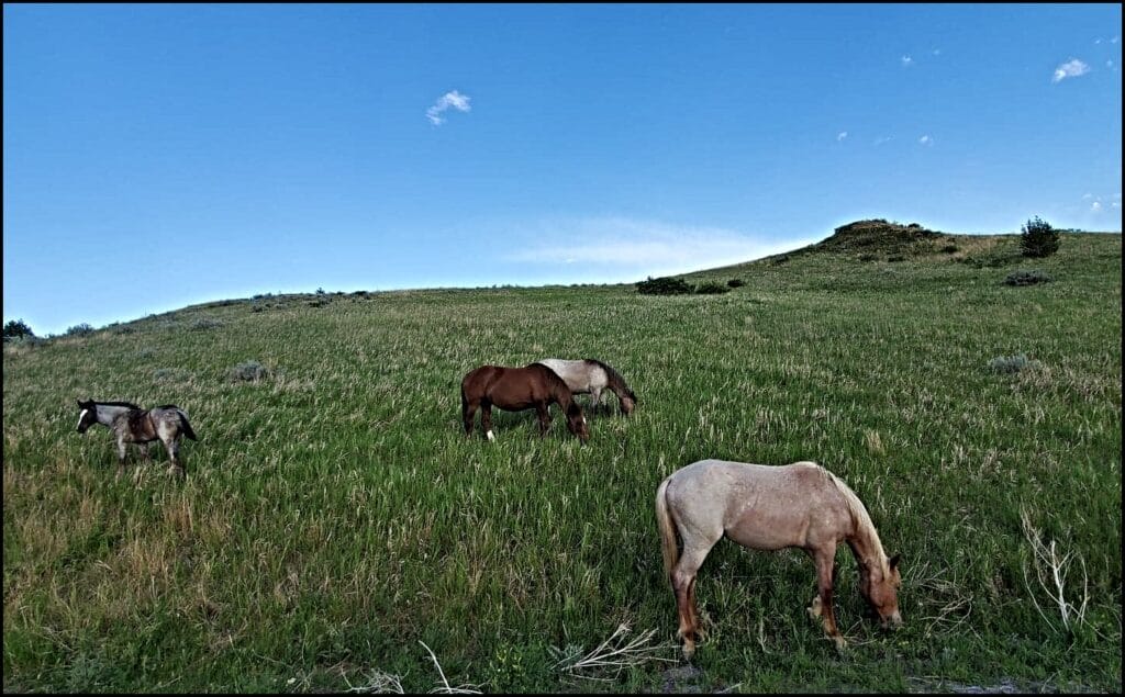
[(135, 443), (142, 445), (145, 456), (150, 456), (148, 447), (153, 441), (160, 441), (168, 450), (172, 463), (169, 472), (183, 476), (183, 465), (179, 460), (180, 437), (188, 436), (198, 441), (188, 415), (176, 405), (164, 405), (153, 409), (143, 409), (132, 401), (93, 401), (78, 400), (80, 409), (78, 432), (84, 434), (90, 426), (101, 424), (117, 436), (117, 462), (125, 464), (125, 445)]

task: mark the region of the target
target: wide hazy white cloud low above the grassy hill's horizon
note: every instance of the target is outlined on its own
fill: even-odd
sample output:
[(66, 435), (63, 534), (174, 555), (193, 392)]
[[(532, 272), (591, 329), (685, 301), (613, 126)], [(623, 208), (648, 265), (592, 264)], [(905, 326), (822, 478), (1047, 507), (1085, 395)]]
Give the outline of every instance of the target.
[(736, 264), (816, 242), (763, 242), (727, 228), (622, 217), (544, 224), (536, 238), (558, 242), (514, 252), (506, 261), (601, 265), (633, 275), (666, 275)]

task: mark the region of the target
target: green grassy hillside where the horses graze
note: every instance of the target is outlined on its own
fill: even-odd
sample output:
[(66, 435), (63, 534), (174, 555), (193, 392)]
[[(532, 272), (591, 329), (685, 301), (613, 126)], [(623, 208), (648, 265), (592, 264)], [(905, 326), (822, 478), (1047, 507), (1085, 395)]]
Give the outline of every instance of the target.
[[(687, 278), (746, 284), (261, 297), (6, 344), (4, 691), (1120, 691), (1119, 234)], [(637, 411), (585, 447), (557, 409), (543, 440), (532, 411), (465, 437), (466, 372), (549, 356), (613, 365)], [(118, 474), (76, 398), (183, 407), (186, 480)], [(703, 458), (847, 481), (903, 555), (903, 628), (862, 616), (842, 547), (838, 654), (811, 560), (724, 541), (683, 663), (652, 499)]]

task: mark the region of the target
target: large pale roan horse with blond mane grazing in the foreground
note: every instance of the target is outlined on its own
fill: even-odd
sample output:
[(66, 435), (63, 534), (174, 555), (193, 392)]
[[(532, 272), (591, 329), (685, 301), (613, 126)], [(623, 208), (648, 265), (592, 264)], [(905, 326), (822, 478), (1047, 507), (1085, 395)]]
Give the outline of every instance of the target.
[[(782, 467), (701, 460), (673, 472), (656, 490), (664, 569), (680, 609), (684, 655), (695, 651), (695, 573), (708, 552), (727, 535), (755, 550), (801, 547), (817, 563), (818, 595), (809, 614), (844, 649), (832, 613), (836, 545), (846, 542), (860, 569), (860, 592), (883, 626), (899, 626), (899, 556), (883, 552), (867, 509), (852, 489), (814, 462)], [(683, 540), (676, 549), (675, 531)]]

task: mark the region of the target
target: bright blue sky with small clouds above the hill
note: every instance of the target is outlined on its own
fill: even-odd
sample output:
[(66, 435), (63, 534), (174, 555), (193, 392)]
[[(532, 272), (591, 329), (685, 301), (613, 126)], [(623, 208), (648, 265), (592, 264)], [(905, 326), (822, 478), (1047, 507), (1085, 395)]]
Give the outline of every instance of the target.
[(1120, 230), (1120, 7), (3, 8), (3, 319)]

